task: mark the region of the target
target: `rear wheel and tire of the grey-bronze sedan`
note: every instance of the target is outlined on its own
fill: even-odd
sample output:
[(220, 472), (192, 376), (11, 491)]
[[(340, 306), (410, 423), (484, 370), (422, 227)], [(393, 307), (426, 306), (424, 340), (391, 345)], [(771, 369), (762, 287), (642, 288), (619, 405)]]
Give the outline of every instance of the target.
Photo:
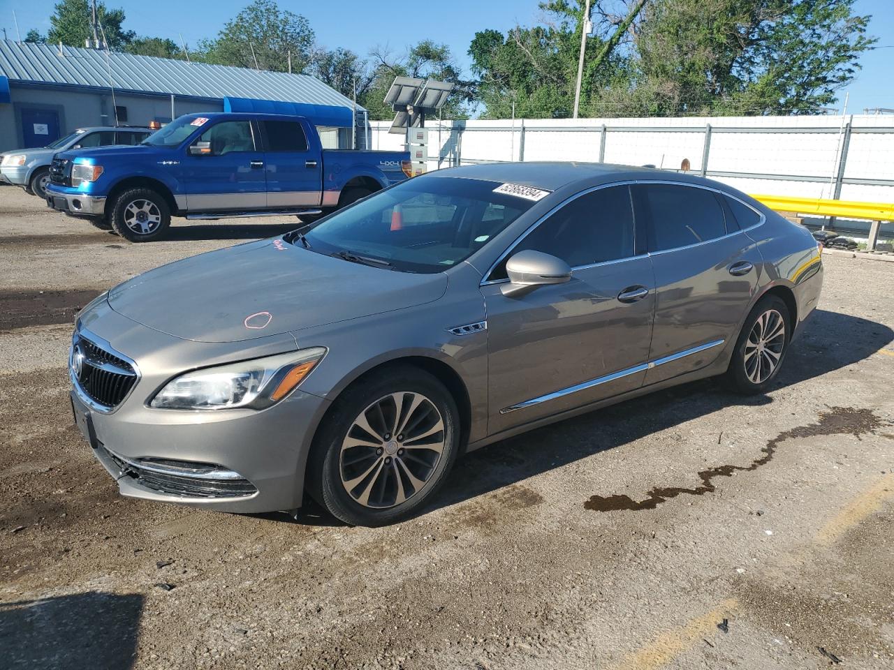
[(769, 389), (785, 361), (791, 331), (791, 314), (785, 302), (776, 296), (762, 297), (738, 334), (724, 375), (726, 385), (745, 395)]

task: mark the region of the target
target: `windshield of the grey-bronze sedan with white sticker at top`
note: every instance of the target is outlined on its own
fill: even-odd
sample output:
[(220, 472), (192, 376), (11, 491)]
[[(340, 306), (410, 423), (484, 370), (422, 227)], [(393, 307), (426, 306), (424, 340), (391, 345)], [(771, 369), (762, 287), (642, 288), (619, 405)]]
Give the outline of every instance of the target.
[(499, 186), (455, 178), (407, 180), (327, 217), (305, 239), (321, 254), (347, 252), (353, 260), (403, 272), (443, 272), (534, 205), (494, 193)]

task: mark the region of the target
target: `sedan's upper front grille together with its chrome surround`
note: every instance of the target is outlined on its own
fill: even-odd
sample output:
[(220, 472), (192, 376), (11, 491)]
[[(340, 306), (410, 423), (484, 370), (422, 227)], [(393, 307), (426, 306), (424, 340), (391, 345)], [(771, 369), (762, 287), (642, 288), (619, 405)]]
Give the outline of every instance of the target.
[(80, 325), (72, 335), (68, 375), (80, 401), (99, 414), (114, 412), (140, 376), (135, 361)]

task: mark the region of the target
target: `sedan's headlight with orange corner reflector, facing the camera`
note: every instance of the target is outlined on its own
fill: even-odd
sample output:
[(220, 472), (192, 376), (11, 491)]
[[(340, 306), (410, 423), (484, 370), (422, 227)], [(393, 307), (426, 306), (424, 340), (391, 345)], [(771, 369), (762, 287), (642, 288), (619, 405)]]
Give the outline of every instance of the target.
[(164, 409), (263, 409), (296, 389), (326, 349), (315, 347), (216, 365), (168, 381), (149, 404)]

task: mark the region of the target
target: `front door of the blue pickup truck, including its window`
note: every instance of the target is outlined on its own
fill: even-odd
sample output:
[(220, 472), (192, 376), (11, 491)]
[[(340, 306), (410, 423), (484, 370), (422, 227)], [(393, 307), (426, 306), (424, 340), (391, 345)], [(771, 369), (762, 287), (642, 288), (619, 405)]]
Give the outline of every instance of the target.
[(264, 154), (256, 146), (251, 121), (219, 121), (193, 146), (201, 147), (204, 153), (193, 155), (188, 149), (182, 159), (190, 212), (240, 212), (266, 207)]

